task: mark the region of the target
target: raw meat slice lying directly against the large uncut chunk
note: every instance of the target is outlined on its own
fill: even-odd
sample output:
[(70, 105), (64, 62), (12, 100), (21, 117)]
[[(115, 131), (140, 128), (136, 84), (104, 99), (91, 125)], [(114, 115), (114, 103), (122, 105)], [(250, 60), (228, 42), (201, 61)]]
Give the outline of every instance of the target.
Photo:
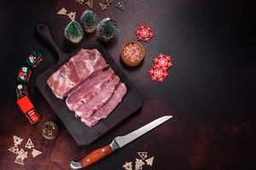
[(76, 88), (71, 94), (68, 94), (66, 99), (67, 107), (71, 111), (79, 109), (81, 105), (96, 96), (113, 76), (113, 70), (108, 69), (107, 71), (98, 72), (96, 76), (83, 82), (79, 88)]

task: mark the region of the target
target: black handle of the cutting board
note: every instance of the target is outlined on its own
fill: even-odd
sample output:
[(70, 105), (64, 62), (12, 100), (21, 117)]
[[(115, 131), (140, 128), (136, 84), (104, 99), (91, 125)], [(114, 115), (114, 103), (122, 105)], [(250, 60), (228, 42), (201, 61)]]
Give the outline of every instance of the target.
[(36, 33), (38, 37), (43, 39), (43, 41), (49, 45), (49, 48), (51, 48), (53, 52), (57, 54), (56, 59), (59, 60), (63, 52), (61, 51), (60, 48), (58, 48), (57, 44), (55, 43), (55, 40), (51, 36), (51, 33), (49, 31), (49, 26), (47, 26), (44, 23), (38, 23), (36, 26)]

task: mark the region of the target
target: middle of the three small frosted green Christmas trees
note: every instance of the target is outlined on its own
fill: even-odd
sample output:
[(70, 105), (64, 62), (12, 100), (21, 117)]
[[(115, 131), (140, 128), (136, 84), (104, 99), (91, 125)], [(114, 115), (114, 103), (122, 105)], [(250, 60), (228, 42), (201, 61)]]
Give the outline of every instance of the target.
[(84, 27), (84, 31), (93, 32), (96, 29), (97, 24), (99, 23), (98, 16), (92, 10), (85, 10), (84, 14), (81, 16), (81, 23)]

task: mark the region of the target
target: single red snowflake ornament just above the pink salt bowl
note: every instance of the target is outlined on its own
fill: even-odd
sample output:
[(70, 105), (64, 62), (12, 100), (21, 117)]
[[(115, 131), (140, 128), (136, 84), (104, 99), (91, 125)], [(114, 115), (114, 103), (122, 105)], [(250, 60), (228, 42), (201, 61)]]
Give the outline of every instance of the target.
[(136, 35), (139, 41), (149, 42), (154, 32), (150, 26), (142, 25), (137, 28)]

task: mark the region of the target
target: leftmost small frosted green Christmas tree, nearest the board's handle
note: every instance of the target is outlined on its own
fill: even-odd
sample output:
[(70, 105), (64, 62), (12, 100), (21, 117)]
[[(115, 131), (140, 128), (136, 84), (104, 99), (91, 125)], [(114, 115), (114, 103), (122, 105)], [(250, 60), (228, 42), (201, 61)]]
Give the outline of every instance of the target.
[(84, 37), (82, 26), (75, 20), (71, 21), (65, 28), (65, 37), (73, 43), (79, 43)]

